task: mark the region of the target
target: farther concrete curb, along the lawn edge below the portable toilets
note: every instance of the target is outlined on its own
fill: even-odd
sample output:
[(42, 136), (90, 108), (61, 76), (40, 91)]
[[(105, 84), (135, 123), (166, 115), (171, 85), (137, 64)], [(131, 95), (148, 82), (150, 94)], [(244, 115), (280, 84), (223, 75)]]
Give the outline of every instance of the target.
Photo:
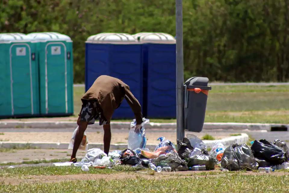
[[(111, 127), (115, 129), (129, 128), (130, 122), (112, 122)], [(76, 122), (71, 121), (30, 121), (30, 122), (21, 122), (21, 121), (11, 121), (4, 122), (0, 121), (0, 128), (76, 128)], [(98, 124), (89, 125), (89, 128), (102, 128)], [(176, 128), (176, 123), (147, 123), (145, 128), (155, 128), (155, 129), (172, 129)], [(271, 131), (272, 128), (284, 128), (287, 131), (289, 125), (286, 124), (269, 124), (269, 123), (204, 123), (204, 128), (207, 130), (212, 129), (222, 129), (222, 130), (266, 130)]]

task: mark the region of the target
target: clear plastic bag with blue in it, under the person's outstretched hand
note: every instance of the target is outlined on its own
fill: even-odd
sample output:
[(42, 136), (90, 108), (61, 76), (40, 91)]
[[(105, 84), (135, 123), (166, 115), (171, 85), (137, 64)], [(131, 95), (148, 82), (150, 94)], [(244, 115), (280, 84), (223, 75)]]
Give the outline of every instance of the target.
[(144, 124), (150, 122), (150, 120), (143, 118), (142, 121), (141, 129), (137, 133), (135, 132), (136, 120), (133, 119), (131, 122), (127, 145), (128, 149), (135, 150), (137, 148), (145, 148), (147, 138), (145, 137)]

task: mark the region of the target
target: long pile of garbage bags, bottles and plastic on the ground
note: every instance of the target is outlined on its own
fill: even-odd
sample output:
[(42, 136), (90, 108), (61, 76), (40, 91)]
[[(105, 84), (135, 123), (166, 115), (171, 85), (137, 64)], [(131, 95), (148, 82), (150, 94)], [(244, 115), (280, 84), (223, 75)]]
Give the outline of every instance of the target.
[[(157, 172), (213, 170), (220, 167), (223, 171), (259, 170), (272, 172), (275, 169), (289, 169), (289, 148), (281, 140), (269, 142), (265, 139), (246, 144), (231, 144), (225, 147), (216, 142), (210, 152), (204, 142), (193, 134), (188, 134), (182, 141), (177, 141), (177, 147), (165, 137), (160, 137), (160, 143), (154, 151), (145, 148), (146, 137), (144, 125), (149, 122), (143, 119), (140, 130), (135, 131), (136, 122), (131, 123), (128, 149), (116, 150), (108, 155), (101, 149), (89, 149), (85, 157), (78, 163), (55, 163), (56, 166), (71, 165), (82, 167), (113, 168), (117, 165), (130, 165), (135, 169), (151, 168)], [(83, 143), (86, 148), (87, 143)], [(70, 147), (71, 148), (71, 147)]]

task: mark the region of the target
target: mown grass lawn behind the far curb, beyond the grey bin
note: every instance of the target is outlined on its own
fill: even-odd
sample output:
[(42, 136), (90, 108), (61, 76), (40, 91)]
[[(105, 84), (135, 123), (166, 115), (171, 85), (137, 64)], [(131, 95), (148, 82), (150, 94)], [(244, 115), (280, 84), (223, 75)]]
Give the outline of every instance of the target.
[[(84, 87), (74, 87), (74, 116), (80, 111), (80, 98), (84, 92)], [(289, 85), (216, 85), (209, 91), (205, 122), (289, 124), (288, 101)], [(150, 121), (176, 122), (176, 119), (150, 119)]]

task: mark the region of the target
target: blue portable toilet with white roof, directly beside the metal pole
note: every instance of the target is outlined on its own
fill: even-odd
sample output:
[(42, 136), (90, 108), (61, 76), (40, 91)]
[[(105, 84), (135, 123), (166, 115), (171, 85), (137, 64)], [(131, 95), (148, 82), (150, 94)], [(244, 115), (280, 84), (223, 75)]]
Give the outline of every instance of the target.
[(167, 33), (137, 33), (144, 65), (144, 115), (176, 118), (176, 39)]

